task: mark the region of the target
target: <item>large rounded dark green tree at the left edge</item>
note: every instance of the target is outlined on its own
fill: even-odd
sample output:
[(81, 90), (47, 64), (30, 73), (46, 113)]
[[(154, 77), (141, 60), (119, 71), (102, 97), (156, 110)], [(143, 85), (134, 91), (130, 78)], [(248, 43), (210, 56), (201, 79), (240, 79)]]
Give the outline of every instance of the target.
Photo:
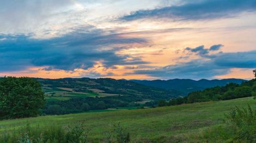
[(36, 116), (45, 98), (38, 81), (29, 77), (0, 79), (0, 119)]

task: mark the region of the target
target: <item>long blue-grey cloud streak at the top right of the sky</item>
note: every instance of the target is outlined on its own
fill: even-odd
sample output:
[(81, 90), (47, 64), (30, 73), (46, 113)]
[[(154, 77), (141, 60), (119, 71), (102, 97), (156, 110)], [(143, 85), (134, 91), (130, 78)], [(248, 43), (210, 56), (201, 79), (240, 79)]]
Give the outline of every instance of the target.
[(232, 17), (240, 12), (255, 11), (256, 0), (205, 0), (188, 1), (183, 5), (166, 6), (151, 10), (138, 10), (121, 20), (132, 21), (143, 18), (170, 18), (173, 20), (197, 20)]

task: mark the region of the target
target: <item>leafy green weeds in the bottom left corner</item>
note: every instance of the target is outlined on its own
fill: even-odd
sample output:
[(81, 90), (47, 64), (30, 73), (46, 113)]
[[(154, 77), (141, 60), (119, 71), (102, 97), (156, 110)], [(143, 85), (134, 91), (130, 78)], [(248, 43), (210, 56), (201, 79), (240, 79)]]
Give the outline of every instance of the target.
[[(10, 132), (10, 131), (9, 131)], [(36, 126), (29, 124), (22, 127), (19, 132), (13, 131), (0, 135), (3, 143), (86, 143), (88, 142), (88, 129), (82, 123), (74, 126)]]

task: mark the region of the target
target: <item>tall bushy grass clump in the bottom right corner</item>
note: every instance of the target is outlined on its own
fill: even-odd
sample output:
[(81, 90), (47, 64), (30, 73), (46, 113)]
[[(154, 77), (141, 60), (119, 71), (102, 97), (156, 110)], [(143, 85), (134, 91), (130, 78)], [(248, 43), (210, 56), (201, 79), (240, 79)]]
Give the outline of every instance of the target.
[(256, 142), (256, 109), (235, 107), (225, 115), (223, 125), (203, 132), (206, 142)]

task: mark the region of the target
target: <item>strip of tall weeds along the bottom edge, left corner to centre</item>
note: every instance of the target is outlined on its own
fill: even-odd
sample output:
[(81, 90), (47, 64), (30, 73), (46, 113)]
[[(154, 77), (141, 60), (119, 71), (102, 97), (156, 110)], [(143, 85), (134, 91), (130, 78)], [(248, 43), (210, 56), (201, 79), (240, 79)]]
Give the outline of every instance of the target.
[[(88, 139), (89, 129), (82, 122), (74, 126), (35, 126), (27, 124), (18, 131), (6, 131), (0, 135), (1, 143), (86, 143), (95, 142)], [(107, 132), (106, 138), (97, 142), (130, 142), (130, 133), (120, 123), (113, 125), (113, 131)]]

